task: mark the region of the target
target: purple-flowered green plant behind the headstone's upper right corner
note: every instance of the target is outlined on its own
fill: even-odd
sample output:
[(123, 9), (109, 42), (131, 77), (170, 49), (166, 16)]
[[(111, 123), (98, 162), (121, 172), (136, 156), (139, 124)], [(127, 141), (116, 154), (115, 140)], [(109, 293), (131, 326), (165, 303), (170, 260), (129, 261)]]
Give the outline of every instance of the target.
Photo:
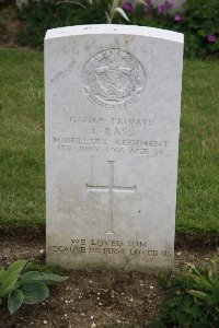
[(184, 33), (185, 55), (206, 57), (219, 55), (219, 1), (187, 0), (181, 12), (171, 0), (159, 4), (146, 0), (135, 8), (127, 5), (130, 24), (160, 27)]

